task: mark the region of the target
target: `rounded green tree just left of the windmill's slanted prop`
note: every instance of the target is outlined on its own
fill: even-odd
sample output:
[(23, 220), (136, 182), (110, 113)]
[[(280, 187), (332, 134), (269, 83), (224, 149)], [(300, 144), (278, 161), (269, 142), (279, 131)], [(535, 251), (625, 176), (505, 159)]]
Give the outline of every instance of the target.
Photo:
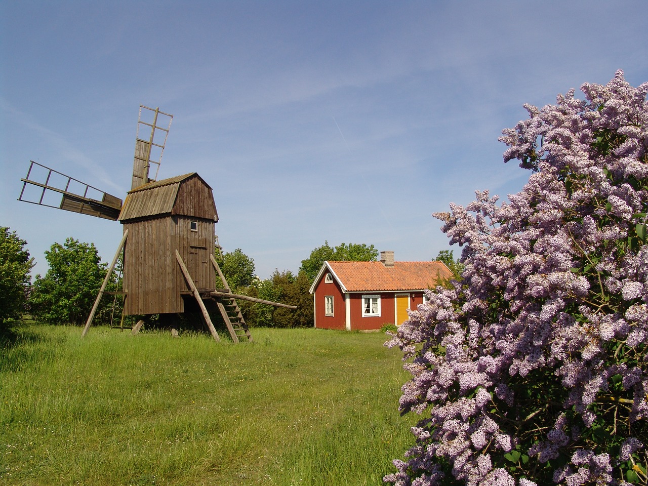
[[(34, 318), (46, 324), (83, 325), (106, 277), (107, 266), (101, 263), (95, 244), (67, 238), (63, 245), (52, 244), (45, 259), (49, 270), (45, 277), (36, 275), (29, 298)], [(105, 307), (108, 299), (100, 304)]]

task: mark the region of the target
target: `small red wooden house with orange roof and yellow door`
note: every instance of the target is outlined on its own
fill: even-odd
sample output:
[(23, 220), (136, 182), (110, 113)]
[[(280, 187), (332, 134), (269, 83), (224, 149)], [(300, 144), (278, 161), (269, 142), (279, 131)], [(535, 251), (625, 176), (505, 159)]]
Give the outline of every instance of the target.
[(423, 291), (452, 272), (443, 262), (395, 262), (381, 251), (379, 262), (324, 262), (310, 293), (319, 329), (375, 330), (408, 319), (423, 303)]

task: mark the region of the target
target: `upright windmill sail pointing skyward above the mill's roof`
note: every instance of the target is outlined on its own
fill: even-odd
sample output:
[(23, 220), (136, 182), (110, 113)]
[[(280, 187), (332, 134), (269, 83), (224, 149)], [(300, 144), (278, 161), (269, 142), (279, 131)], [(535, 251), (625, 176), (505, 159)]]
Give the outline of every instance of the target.
[[(164, 147), (167, 144), (172, 119), (173, 115), (159, 111), (159, 108), (139, 106), (131, 189), (157, 180), (157, 171), (162, 161), (162, 152), (164, 152)], [(148, 139), (146, 138), (147, 135)], [(150, 177), (151, 164), (157, 165), (156, 175), (152, 178)]]

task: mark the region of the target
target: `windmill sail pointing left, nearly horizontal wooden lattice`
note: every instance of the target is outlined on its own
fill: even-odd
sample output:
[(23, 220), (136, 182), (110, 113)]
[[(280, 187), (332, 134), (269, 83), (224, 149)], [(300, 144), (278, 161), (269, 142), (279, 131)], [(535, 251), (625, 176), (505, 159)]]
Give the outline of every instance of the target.
[[(117, 221), (122, 200), (96, 187), (31, 161), (19, 201)], [(60, 198), (60, 199), (59, 199)]]

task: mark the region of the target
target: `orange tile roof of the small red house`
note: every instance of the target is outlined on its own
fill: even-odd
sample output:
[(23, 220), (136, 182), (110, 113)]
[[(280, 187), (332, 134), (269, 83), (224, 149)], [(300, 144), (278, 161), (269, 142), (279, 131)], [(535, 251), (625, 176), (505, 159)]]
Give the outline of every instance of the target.
[[(443, 262), (325, 262), (346, 292), (421, 290), (434, 287), (452, 272)], [(320, 276), (321, 277), (321, 276)]]

